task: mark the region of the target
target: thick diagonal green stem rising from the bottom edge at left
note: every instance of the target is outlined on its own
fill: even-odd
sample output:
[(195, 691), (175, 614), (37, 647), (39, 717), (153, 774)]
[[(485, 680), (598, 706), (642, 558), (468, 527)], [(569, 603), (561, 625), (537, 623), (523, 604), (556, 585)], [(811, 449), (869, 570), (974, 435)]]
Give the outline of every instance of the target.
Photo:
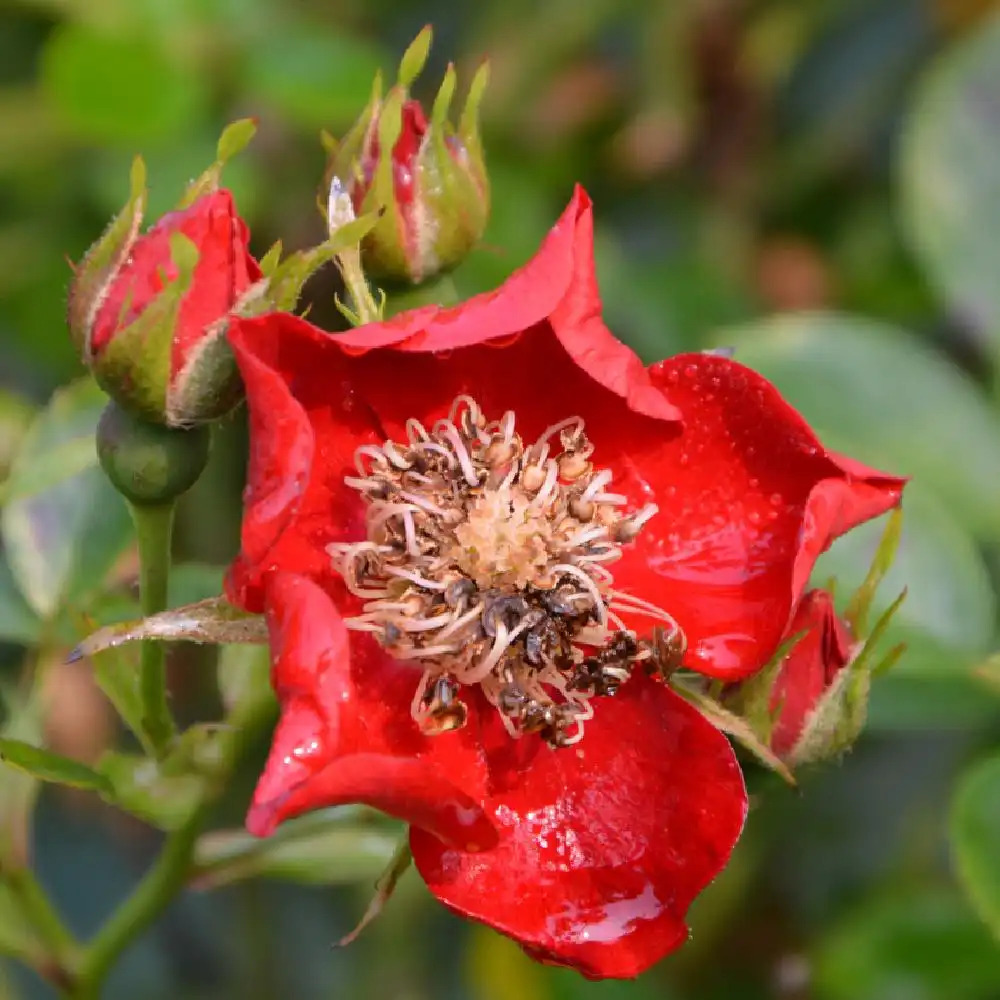
[(97, 1000), (101, 984), (118, 956), (180, 891), (209, 808), (209, 802), (202, 802), (187, 822), (167, 837), (153, 867), (90, 942), (79, 967), (76, 992), (72, 994), (75, 1000)]

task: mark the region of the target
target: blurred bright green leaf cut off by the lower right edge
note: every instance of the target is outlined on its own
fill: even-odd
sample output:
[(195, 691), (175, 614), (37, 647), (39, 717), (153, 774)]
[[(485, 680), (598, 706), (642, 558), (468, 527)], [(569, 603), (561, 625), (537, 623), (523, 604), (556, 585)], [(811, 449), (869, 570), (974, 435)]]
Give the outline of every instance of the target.
[(966, 895), (1000, 941), (1000, 754), (959, 780), (951, 805), (951, 844)]

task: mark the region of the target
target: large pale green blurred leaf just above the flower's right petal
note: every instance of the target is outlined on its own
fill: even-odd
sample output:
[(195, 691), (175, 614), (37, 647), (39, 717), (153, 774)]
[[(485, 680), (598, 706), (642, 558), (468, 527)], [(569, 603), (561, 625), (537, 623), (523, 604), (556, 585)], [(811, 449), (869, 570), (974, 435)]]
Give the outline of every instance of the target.
[(778, 316), (713, 339), (774, 382), (826, 444), (913, 476), (973, 533), (1000, 537), (1000, 417), (944, 356), (901, 330), (835, 313)]

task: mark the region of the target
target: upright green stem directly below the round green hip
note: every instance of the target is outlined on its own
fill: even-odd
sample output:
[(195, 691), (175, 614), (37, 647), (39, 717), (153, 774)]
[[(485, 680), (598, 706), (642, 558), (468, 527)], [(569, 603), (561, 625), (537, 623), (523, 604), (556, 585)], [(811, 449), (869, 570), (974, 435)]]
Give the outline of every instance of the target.
[[(143, 616), (148, 617), (167, 607), (174, 501), (130, 502), (129, 510), (139, 544), (139, 599)], [(167, 703), (166, 649), (162, 642), (147, 639), (142, 643), (139, 693), (143, 727), (157, 756), (163, 757), (177, 730)]]

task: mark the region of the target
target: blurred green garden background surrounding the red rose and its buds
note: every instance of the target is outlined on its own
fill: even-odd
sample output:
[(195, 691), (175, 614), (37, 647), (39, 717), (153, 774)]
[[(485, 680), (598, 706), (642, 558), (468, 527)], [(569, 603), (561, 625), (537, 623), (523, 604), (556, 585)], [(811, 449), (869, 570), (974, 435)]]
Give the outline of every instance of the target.
[[(127, 953), (109, 997), (1000, 998), (989, 929), (1000, 933), (994, 6), (0, 0), (0, 478), (36, 408), (81, 374), (63, 318), (67, 260), (124, 202), (133, 155), (148, 162), (155, 217), (213, 158), (221, 127), (253, 115), (257, 139), (225, 180), (254, 251), (278, 237), (289, 249), (318, 242), (317, 134), (346, 129), (376, 69), (391, 73), (428, 22), (425, 95), (449, 59), (466, 80), (483, 56), (492, 64), (494, 211), (456, 273), (463, 293), (526, 259), (580, 181), (596, 202), (619, 336), (649, 360), (735, 346), (833, 447), (914, 477), (883, 592), (887, 603), (909, 585), (890, 639), (910, 649), (878, 682), (867, 735), (799, 792), (750, 769), (753, 811), (731, 867), (698, 902), (690, 944), (641, 979), (592, 984), (534, 965), (451, 918), (412, 873), (357, 944), (332, 948), (384, 859), (387, 834), (374, 825), (346, 863), (319, 844), (283, 869), (292, 881), (188, 893)], [(329, 275), (310, 286), (314, 315), (332, 315), (333, 291)], [(76, 421), (67, 433), (90, 455), (93, 394), (61, 400)], [(51, 447), (44, 430), (36, 423), (32, 447)], [(195, 564), (178, 600), (217, 592), (237, 541), (244, 448), (237, 414), (184, 502), (178, 551)], [(61, 658), (81, 613), (129, 612), (135, 565), (124, 511), (117, 519), (115, 498), (86, 482), (73, 516), (46, 519), (26, 502), (4, 510), (0, 681), (13, 688), (26, 663), (45, 668), (48, 745), (93, 762), (117, 723), (87, 666)], [(88, 549), (98, 523), (100, 559)], [(837, 574), (846, 593), (878, 531), (836, 546), (818, 579)], [(172, 654), (174, 705), (188, 721), (218, 718), (210, 665), (203, 650)], [(266, 735), (225, 804), (232, 825)], [(40, 876), (81, 935), (157, 843), (83, 794), (41, 797)], [(16, 918), (0, 908), (0, 939), (16, 931), (5, 919)], [(0, 998), (49, 995), (0, 965)]]

